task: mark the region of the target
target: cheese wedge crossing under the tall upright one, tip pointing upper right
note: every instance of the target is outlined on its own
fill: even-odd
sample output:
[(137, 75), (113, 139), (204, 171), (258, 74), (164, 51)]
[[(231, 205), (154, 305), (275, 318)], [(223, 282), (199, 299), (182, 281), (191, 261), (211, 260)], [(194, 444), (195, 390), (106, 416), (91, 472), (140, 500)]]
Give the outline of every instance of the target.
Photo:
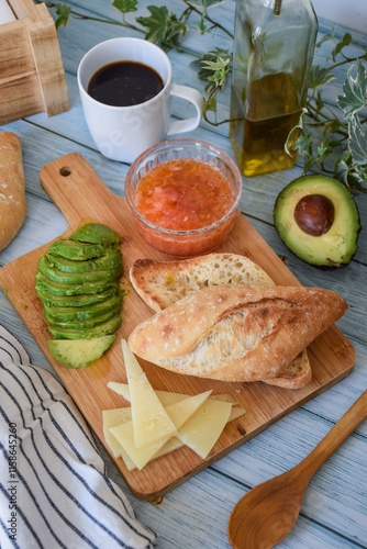
[[(185, 425), (185, 423), (202, 406), (210, 393), (211, 391), (196, 394), (189, 396), (185, 401), (167, 406), (166, 412), (173, 419), (176, 429)], [(112, 427), (110, 432), (140, 470), (143, 469), (143, 467), (145, 467), (168, 441), (167, 437), (166, 439), (155, 440), (143, 447), (137, 447), (134, 437), (134, 419)]]

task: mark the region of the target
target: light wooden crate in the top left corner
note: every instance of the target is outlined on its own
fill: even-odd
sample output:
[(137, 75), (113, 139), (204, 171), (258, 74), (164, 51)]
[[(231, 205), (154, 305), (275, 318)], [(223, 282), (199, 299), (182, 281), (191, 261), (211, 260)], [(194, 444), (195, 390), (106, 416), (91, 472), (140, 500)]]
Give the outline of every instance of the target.
[(9, 0), (15, 21), (0, 25), (0, 125), (69, 109), (62, 54), (44, 3)]

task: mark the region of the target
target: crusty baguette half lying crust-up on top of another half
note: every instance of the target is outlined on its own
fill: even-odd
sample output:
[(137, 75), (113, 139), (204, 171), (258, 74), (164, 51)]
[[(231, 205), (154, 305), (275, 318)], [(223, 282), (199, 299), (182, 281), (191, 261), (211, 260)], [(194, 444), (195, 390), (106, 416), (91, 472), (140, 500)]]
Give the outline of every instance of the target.
[(341, 295), (320, 288), (221, 284), (143, 322), (129, 345), (141, 358), (175, 372), (269, 380), (346, 309)]

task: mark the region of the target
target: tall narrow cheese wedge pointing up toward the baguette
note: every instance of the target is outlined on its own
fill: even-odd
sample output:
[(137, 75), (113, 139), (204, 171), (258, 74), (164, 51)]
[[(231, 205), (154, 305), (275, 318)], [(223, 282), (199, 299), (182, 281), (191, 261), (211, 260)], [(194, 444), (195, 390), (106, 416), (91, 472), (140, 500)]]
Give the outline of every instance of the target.
[(177, 428), (165, 411), (143, 369), (122, 339), (122, 350), (131, 399), (132, 425), (136, 448), (167, 439)]

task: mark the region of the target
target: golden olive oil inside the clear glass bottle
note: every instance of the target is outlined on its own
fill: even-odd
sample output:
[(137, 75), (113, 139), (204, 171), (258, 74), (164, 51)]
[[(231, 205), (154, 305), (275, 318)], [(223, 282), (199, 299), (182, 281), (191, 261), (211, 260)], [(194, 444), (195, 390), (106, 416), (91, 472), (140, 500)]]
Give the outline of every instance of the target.
[(285, 144), (301, 109), (291, 75), (267, 75), (247, 90), (234, 81), (231, 93), (230, 138), (241, 171), (249, 177), (292, 167), (297, 152), (289, 155)]

